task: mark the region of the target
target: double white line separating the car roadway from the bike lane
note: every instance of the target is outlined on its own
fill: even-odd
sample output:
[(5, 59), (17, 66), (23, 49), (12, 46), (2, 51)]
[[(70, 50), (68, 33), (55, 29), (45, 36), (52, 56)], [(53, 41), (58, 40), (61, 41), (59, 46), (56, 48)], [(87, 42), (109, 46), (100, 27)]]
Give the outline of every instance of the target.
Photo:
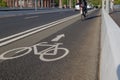
[[(71, 16), (71, 17), (67, 17), (67, 18), (64, 18), (64, 19), (60, 19), (60, 20), (58, 20), (58, 21), (49, 23), (49, 24), (47, 24), (47, 26), (44, 26), (44, 27), (41, 27), (41, 26), (40, 26), (40, 29), (31, 30), (31, 31), (28, 31), (28, 33), (24, 32), (24, 34), (20, 33), (21, 35), (18, 35), (18, 34), (16, 34), (17, 36), (14, 36), (14, 35), (13, 35), (14, 37), (12, 36), (12, 39), (11, 39), (11, 37), (10, 37), (10, 38), (8, 37), (8, 38), (1, 39), (2, 42), (0, 43), (0, 46), (7, 45), (7, 44), (9, 44), (9, 43), (11, 43), (11, 42), (13, 42), (13, 41), (16, 41), (16, 40), (19, 40), (19, 39), (21, 39), (21, 38), (30, 36), (30, 35), (32, 35), (32, 34), (35, 34), (35, 33), (37, 33), (37, 32), (40, 32), (40, 31), (42, 31), (42, 30), (45, 30), (45, 29), (47, 29), (47, 28), (53, 27), (53, 26), (55, 26), (55, 25), (57, 25), (57, 24), (63, 23), (63, 22), (65, 22), (65, 21), (68, 21), (68, 20), (73, 19), (73, 18), (78, 17), (78, 16), (80, 16), (80, 14), (73, 15), (73, 16)], [(38, 28), (39, 28), (39, 27), (38, 27)], [(4, 40), (5, 40), (5, 41), (4, 41)]]

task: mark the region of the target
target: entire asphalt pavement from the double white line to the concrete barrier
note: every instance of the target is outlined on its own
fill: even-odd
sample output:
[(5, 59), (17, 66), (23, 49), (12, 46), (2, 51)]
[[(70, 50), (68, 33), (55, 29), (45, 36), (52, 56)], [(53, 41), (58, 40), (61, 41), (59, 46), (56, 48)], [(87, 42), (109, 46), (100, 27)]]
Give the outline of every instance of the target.
[[(64, 26), (56, 25), (57, 28)], [(98, 80), (99, 10), (59, 31), (56, 27), (37, 33), (37, 37), (2, 46), (0, 54), (9, 54), (0, 55), (0, 80)], [(56, 33), (39, 40), (52, 31)]]

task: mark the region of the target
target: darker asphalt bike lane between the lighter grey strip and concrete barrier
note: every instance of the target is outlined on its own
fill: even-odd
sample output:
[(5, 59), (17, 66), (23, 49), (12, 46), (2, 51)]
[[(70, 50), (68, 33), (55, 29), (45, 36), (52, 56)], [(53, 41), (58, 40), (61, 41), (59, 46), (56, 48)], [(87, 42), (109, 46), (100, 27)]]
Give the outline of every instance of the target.
[[(25, 56), (0, 62), (0, 80), (97, 80), (99, 35), (100, 17), (96, 12), (88, 16), (87, 20), (79, 20), (34, 44), (63, 43), (59, 48), (69, 50), (66, 56), (46, 62), (32, 50)], [(46, 46), (37, 46), (37, 49), (40, 52), (46, 49)], [(58, 51), (55, 57), (63, 53)]]

